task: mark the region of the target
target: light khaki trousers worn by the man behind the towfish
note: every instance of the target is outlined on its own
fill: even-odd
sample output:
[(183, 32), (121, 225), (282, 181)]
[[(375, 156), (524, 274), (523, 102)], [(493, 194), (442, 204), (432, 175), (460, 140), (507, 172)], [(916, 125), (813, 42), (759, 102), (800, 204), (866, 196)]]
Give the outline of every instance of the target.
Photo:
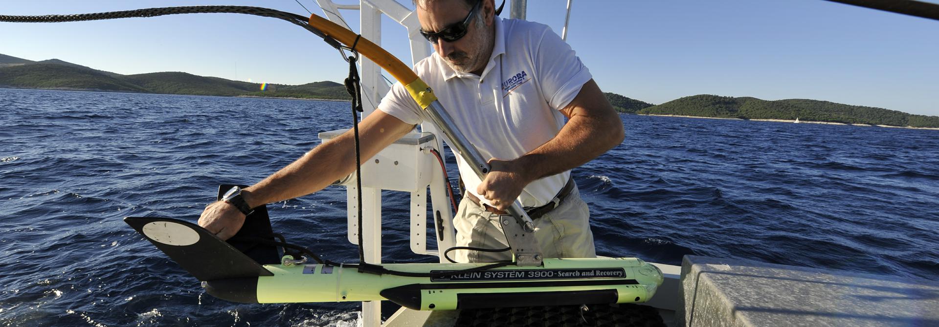
[[(473, 201), (460, 201), (454, 218), (456, 246), (499, 249), (509, 247), (499, 223), (499, 215), (485, 211)], [(535, 239), (544, 258), (594, 258), (593, 232), (590, 230), (590, 210), (580, 199), (577, 187), (545, 216), (534, 219)], [(492, 262), (511, 260), (512, 252), (483, 252), (454, 250), (451, 256), (457, 262)]]

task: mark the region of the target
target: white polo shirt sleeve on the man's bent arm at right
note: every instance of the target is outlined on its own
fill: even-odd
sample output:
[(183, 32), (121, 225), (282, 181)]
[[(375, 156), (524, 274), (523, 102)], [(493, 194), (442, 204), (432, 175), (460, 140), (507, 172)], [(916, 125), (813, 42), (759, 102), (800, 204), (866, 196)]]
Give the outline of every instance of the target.
[(538, 82), (547, 104), (555, 110), (562, 110), (577, 97), (580, 88), (593, 79), (577, 52), (564, 42), (549, 27), (545, 29), (541, 42), (533, 45), (535, 52), (534, 67), (540, 76)]

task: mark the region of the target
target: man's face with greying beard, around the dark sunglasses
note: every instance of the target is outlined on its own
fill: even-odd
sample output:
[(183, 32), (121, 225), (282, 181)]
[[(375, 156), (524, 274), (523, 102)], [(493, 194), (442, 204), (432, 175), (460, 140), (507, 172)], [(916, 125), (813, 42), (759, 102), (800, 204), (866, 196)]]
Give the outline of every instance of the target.
[[(461, 72), (482, 72), (492, 51), (492, 35), (487, 33), (484, 4), (472, 17), (467, 26), (467, 34), (453, 42), (443, 38), (434, 44), (443, 61), (451, 68)], [(462, 0), (418, 1), (417, 17), (421, 29), (426, 32), (438, 32), (454, 24), (460, 24), (469, 15), (471, 7)]]

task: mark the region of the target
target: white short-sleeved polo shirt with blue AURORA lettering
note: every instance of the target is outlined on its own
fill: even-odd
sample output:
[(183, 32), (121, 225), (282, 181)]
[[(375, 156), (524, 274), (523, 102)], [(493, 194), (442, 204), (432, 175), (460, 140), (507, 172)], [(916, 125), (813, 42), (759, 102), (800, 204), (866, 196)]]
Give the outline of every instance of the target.
[[(495, 46), (482, 76), (454, 71), (437, 52), (414, 69), (434, 89), (456, 127), (484, 158), (508, 160), (554, 138), (564, 125), (560, 110), (593, 76), (550, 27), (498, 17), (495, 23)], [(377, 109), (408, 124), (430, 120), (401, 82), (394, 83)], [(476, 193), (482, 181), (461, 156), (456, 156), (456, 162), (467, 190), (487, 203)], [(527, 207), (546, 204), (561, 190), (570, 173), (564, 171), (532, 182), (519, 200)]]

